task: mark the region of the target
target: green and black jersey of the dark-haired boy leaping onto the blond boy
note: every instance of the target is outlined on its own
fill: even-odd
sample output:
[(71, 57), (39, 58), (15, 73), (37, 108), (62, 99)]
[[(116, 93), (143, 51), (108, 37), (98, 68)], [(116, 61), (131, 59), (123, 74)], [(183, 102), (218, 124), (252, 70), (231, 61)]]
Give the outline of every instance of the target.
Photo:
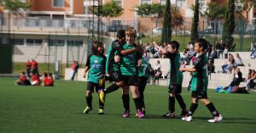
[(114, 62), (114, 56), (119, 55), (123, 49), (123, 45), (118, 40), (112, 42), (108, 48), (108, 57), (106, 65), (106, 73), (112, 73), (113, 71), (120, 70), (119, 64)]

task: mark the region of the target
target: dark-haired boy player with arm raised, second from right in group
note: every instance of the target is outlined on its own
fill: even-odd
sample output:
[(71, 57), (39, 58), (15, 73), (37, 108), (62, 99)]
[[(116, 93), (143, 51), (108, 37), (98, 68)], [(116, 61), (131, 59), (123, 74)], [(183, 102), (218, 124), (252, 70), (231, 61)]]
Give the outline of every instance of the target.
[(178, 53), (179, 44), (177, 41), (172, 41), (167, 44), (167, 49), (159, 47), (154, 44), (155, 47), (160, 49), (160, 53), (165, 54), (167, 58), (170, 58), (170, 80), (169, 80), (169, 111), (163, 115), (166, 118), (175, 117), (175, 98), (180, 108), (182, 108), (181, 116), (187, 114), (186, 104), (181, 96), (183, 73), (179, 71), (180, 68), (180, 54)]

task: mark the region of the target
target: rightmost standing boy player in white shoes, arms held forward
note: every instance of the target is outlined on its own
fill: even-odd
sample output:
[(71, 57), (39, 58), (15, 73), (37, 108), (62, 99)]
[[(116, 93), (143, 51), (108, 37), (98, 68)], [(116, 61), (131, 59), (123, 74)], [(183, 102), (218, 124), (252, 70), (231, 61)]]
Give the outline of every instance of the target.
[(180, 68), (182, 71), (189, 71), (192, 73), (191, 91), (192, 91), (192, 103), (189, 108), (189, 113), (182, 119), (185, 121), (191, 121), (192, 115), (195, 113), (198, 107), (198, 100), (200, 99), (204, 103), (209, 111), (213, 115), (213, 119), (209, 119), (208, 122), (218, 122), (223, 119), (222, 115), (218, 113), (213, 103), (207, 98), (207, 86), (208, 86), (208, 71), (207, 63), (208, 58), (206, 54), (207, 41), (205, 39), (198, 39), (195, 41), (195, 52), (198, 56), (195, 58), (195, 64), (193, 68)]

